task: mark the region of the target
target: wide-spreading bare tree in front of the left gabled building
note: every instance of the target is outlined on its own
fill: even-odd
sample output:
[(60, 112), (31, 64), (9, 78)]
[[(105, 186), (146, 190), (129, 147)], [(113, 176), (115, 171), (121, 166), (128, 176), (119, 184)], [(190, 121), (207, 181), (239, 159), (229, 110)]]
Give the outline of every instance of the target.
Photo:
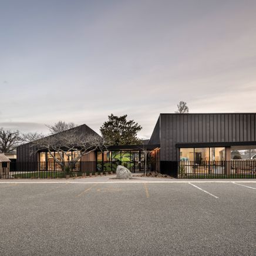
[[(106, 149), (102, 137), (97, 134), (80, 134), (78, 129), (65, 130), (64, 132), (31, 142), (31, 154), (41, 150), (48, 151), (50, 156), (52, 156), (60, 166), (64, 164), (64, 156), (71, 157), (71, 161), (76, 163), (82, 156), (96, 149), (101, 151)], [(57, 153), (57, 156), (53, 151)], [(70, 155), (72, 151), (76, 151), (76, 154)]]

